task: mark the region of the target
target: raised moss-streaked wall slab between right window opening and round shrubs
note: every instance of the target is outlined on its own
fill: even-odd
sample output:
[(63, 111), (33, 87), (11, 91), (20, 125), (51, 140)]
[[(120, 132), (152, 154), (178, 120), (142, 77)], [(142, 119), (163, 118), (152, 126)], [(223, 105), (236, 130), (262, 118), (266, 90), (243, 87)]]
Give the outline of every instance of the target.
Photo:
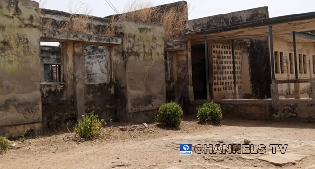
[(124, 21), (129, 113), (165, 103), (164, 30), (161, 25)]

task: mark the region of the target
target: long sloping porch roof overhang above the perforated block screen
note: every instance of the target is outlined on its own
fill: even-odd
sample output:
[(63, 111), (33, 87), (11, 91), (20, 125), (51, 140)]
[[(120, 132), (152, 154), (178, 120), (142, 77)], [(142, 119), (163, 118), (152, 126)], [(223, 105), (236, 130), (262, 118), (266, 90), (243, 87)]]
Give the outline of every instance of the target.
[[(269, 26), (274, 36), (288, 35), (292, 32), (315, 30), (315, 12), (274, 17), (236, 25), (192, 30), (186, 33), (192, 41), (209, 40), (243, 40), (269, 36)], [(305, 37), (304, 37), (305, 38)]]

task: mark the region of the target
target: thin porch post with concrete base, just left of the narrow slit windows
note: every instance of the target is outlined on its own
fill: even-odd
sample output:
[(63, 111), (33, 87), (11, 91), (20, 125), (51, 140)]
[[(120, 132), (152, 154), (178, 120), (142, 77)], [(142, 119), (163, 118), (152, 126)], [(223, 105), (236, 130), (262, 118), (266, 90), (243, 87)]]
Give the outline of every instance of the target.
[(278, 92), (278, 84), (275, 83), (276, 74), (275, 74), (275, 66), (274, 66), (274, 51), (273, 51), (273, 32), (272, 26), (269, 26), (269, 47), (270, 47), (270, 61), (271, 61), (271, 76), (272, 76), (272, 84), (271, 87), (271, 100), (278, 101), (279, 100), (279, 92)]

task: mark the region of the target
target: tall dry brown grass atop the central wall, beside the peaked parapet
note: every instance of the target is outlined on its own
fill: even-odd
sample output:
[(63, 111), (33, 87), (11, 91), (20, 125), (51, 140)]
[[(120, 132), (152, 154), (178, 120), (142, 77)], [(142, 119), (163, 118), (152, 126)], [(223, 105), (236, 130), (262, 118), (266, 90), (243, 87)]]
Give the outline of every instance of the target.
[(115, 36), (116, 24), (124, 19), (142, 20), (164, 26), (164, 40), (166, 42), (181, 40), (187, 24), (188, 7), (186, 3), (177, 6), (155, 6), (150, 1), (133, 0), (126, 3), (123, 14), (112, 16), (110, 25), (104, 35)]

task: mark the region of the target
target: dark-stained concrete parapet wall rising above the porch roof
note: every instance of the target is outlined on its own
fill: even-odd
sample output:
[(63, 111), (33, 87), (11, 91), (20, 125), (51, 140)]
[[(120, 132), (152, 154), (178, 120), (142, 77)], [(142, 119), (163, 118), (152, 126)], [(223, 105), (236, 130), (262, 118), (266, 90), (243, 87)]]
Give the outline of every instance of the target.
[(254, 20), (269, 18), (268, 7), (260, 7), (243, 11), (232, 12), (228, 14), (219, 14), (204, 18), (189, 20), (189, 30), (215, 28), (228, 25), (234, 25)]

